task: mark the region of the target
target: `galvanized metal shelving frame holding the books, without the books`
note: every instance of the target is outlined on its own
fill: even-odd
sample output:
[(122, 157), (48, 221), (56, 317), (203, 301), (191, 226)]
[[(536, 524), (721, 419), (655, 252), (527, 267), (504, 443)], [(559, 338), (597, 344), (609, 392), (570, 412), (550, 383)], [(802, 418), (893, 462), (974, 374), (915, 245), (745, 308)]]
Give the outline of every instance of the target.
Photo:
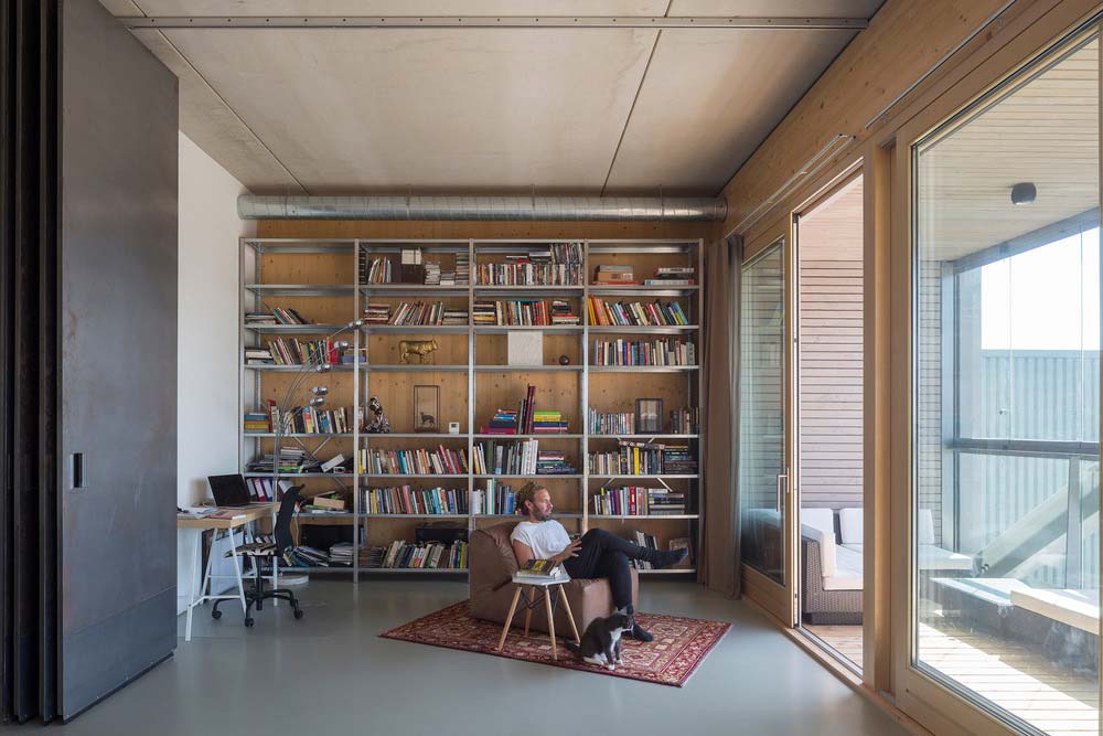
[[(345, 490), (352, 492), (353, 510), (343, 514), (311, 514), (301, 513), (297, 519), (301, 522), (309, 522), (317, 519), (340, 519), (357, 526), (354, 533), (354, 554), (351, 566), (334, 567), (293, 567), (282, 568), (283, 570), (310, 572), (322, 574), (352, 574), (353, 579), (358, 579), (360, 573), (371, 574), (439, 574), (439, 575), (463, 575), (467, 569), (406, 569), (406, 568), (363, 568), (360, 566), (361, 540), (368, 538), (370, 524), (374, 520), (467, 520), (469, 531), (476, 529), (480, 520), (508, 519), (504, 514), (373, 514), (361, 509), (361, 493), (372, 486), (368, 481), (375, 480), (400, 480), (408, 481), (447, 479), (447, 481), (458, 481), (453, 488), (456, 490), (474, 490), (479, 481), (490, 478), (522, 480), (522, 479), (545, 479), (549, 481), (574, 482), (578, 486), (578, 510), (569, 512), (557, 512), (557, 516), (563, 519), (578, 520), (582, 530), (588, 529), (590, 522), (597, 521), (647, 521), (651, 523), (683, 523), (687, 525), (688, 536), (694, 540), (694, 547), (697, 550), (699, 542), (699, 527), (703, 516), (699, 512), (703, 509), (704, 477), (703, 474), (665, 474), (665, 476), (609, 476), (590, 473), (588, 471), (587, 457), (591, 451), (592, 442), (604, 440), (662, 440), (677, 439), (685, 440), (700, 459), (700, 448), (704, 444), (702, 434), (674, 434), (674, 433), (645, 433), (625, 435), (597, 435), (586, 431), (586, 416), (589, 406), (589, 392), (591, 376), (604, 373), (647, 373), (647, 374), (670, 374), (671, 381), (685, 381), (686, 393), (690, 405), (698, 405), (702, 396), (703, 375), (699, 366), (595, 366), (589, 363), (589, 348), (591, 335), (603, 338), (604, 335), (683, 335), (695, 341), (698, 355), (703, 346), (700, 332), (700, 317), (703, 314), (703, 290), (699, 286), (688, 287), (649, 287), (649, 286), (596, 286), (589, 284), (589, 277), (593, 271), (593, 266), (600, 262), (604, 255), (643, 255), (653, 256), (667, 254), (672, 259), (685, 265), (693, 265), (696, 268), (697, 277), (700, 277), (704, 266), (704, 248), (700, 241), (623, 241), (623, 239), (592, 239), (576, 241), (582, 243), (583, 262), (582, 273), (585, 284), (581, 285), (555, 285), (555, 286), (525, 286), (525, 285), (479, 285), (474, 281), (478, 278), (478, 265), (480, 256), (492, 256), (493, 254), (520, 253), (533, 247), (549, 245), (553, 242), (547, 239), (511, 239), (511, 241), (427, 241), (427, 239), (389, 239), (389, 241), (367, 241), (367, 239), (293, 239), (293, 238), (243, 238), (242, 262), (240, 262), (240, 284), (242, 297), (239, 314), (245, 311), (260, 311), (269, 303), (272, 297), (319, 297), (339, 298), (349, 301), (349, 320), (354, 320), (361, 316), (363, 306), (373, 297), (394, 298), (414, 297), (421, 300), (437, 300), (440, 298), (464, 298), (467, 300), (469, 323), (465, 326), (395, 326), (395, 324), (365, 324), (360, 330), (354, 331), (350, 340), (354, 340), (355, 355), (361, 355), (361, 348), (366, 345), (367, 339), (373, 335), (432, 335), (452, 334), (467, 335), (468, 339), (468, 361), (458, 364), (377, 364), (371, 362), (354, 364), (334, 365), (334, 371), (353, 373), (353, 399), (355, 407), (362, 406), (372, 394), (372, 375), (375, 373), (461, 373), (467, 376), (468, 386), (468, 412), (467, 431), (462, 434), (445, 433), (393, 433), (388, 435), (368, 435), (361, 433), (360, 426), (354, 426), (353, 431), (343, 434), (295, 434), (288, 435), (295, 439), (315, 439), (328, 441), (329, 439), (352, 439), (353, 440), (353, 469), (352, 473), (300, 473), (303, 478), (333, 478), (344, 487), (344, 481), (350, 481)], [(463, 286), (424, 286), (417, 284), (360, 284), (358, 282), (358, 258), (364, 249), (371, 255), (387, 254), (397, 255), (403, 248), (419, 247), (428, 255), (432, 254), (457, 254), (467, 253), (471, 266), (470, 282)], [(278, 254), (347, 254), (352, 262), (353, 282), (350, 284), (266, 284), (264, 279), (265, 257)], [(371, 257), (371, 256), (368, 256)], [(687, 316), (692, 324), (685, 326), (591, 326), (587, 323), (587, 305), (589, 298), (595, 297), (620, 297), (630, 299), (679, 299), (687, 309)], [(501, 326), (501, 324), (474, 324), (472, 323), (472, 308), (476, 299), (500, 298), (500, 299), (550, 299), (568, 298), (578, 302), (580, 324), (577, 326)], [(279, 305), (271, 305), (279, 306)], [(331, 317), (332, 319), (332, 317)], [(324, 324), (296, 324), (296, 326), (245, 326), (244, 321), (239, 330), (238, 355), (244, 355), (244, 348), (247, 344), (261, 344), (261, 337), (265, 335), (298, 335), (298, 334), (330, 334), (340, 329), (344, 323)], [(481, 335), (502, 335), (511, 331), (533, 331), (539, 330), (548, 334), (576, 335), (578, 338), (579, 364), (577, 365), (538, 365), (538, 366), (511, 366), (497, 364), (480, 364), (478, 362), (479, 338)], [(244, 410), (255, 406), (255, 398), (263, 395), (264, 376), (270, 373), (287, 373), (299, 370), (297, 366), (267, 366), (267, 365), (239, 365), (239, 378), (243, 386), (240, 407)], [(554, 373), (574, 374), (577, 376), (578, 403), (575, 407), (578, 429), (567, 434), (535, 434), (535, 435), (495, 435), (480, 434), (475, 423), (475, 407), (479, 403), (478, 377), (492, 374), (513, 373)], [(413, 376), (411, 376), (413, 377)], [(355, 417), (352, 417), (355, 423)], [(275, 437), (274, 433), (240, 433), (239, 466), (244, 470), (247, 460), (261, 451), (261, 442), (265, 439)], [(471, 454), (474, 446), (486, 441), (513, 441), (526, 439), (543, 439), (550, 441), (571, 442), (578, 451), (578, 463), (580, 472), (569, 474), (476, 474), (469, 472), (465, 474), (373, 474), (358, 472), (357, 456), (361, 449), (371, 448), (379, 440), (408, 439), (409, 447), (424, 445), (416, 440), (460, 440), (465, 444), (465, 451), (471, 461)], [(390, 444), (394, 446), (394, 444)], [(596, 445), (600, 447), (600, 445)], [(247, 473), (249, 476), (265, 476), (267, 473)], [(292, 476), (293, 477), (293, 476)], [(590, 483), (591, 481), (608, 483), (613, 480), (633, 481), (652, 480), (663, 482), (665, 480), (676, 480), (687, 483), (687, 494), (690, 499), (689, 510), (695, 511), (685, 514), (666, 514), (654, 516), (641, 515), (598, 515), (590, 511)], [(452, 486), (447, 482), (442, 484)], [(465, 488), (463, 488), (465, 484)], [(574, 505), (574, 504), (568, 504)], [(641, 570), (643, 574), (686, 574), (694, 572), (694, 568), (677, 568), (672, 570)]]

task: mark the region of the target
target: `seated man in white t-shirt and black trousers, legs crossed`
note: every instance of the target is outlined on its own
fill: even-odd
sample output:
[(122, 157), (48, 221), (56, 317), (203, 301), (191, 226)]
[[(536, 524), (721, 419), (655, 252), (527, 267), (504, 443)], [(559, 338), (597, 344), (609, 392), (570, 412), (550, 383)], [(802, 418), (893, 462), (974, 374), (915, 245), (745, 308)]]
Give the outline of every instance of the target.
[[(554, 559), (561, 563), (571, 577), (609, 578), (618, 611), (635, 612), (632, 610), (629, 559), (642, 559), (655, 567), (666, 567), (686, 556), (685, 550), (641, 547), (603, 529), (591, 529), (580, 540), (572, 542), (563, 524), (552, 519), (552, 494), (546, 488), (529, 482), (517, 491), (517, 509), (527, 514), (527, 519), (517, 524), (510, 535), (517, 564), (524, 565), (534, 557)], [(632, 630), (632, 636), (640, 641), (654, 639), (639, 623)]]

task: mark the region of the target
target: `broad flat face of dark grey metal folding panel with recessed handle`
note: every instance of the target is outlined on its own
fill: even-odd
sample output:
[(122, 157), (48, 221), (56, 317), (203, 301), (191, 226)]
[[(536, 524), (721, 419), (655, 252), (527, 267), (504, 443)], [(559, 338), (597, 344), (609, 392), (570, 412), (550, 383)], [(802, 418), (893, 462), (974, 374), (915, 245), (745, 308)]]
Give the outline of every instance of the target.
[[(62, 714), (175, 643), (176, 79), (98, 2), (61, 31)], [(85, 488), (72, 456), (84, 454)], [(140, 614), (140, 615), (139, 615)], [(142, 622), (141, 636), (135, 633)], [(95, 636), (90, 636), (95, 632)]]

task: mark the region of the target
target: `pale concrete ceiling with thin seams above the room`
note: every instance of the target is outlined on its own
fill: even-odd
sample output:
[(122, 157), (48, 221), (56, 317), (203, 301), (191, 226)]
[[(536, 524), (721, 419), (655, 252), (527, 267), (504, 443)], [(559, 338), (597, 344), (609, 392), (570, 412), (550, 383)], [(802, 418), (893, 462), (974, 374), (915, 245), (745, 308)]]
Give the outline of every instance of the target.
[[(870, 18), (881, 0), (101, 0), (116, 15)], [(257, 193), (717, 193), (850, 30), (136, 30)]]

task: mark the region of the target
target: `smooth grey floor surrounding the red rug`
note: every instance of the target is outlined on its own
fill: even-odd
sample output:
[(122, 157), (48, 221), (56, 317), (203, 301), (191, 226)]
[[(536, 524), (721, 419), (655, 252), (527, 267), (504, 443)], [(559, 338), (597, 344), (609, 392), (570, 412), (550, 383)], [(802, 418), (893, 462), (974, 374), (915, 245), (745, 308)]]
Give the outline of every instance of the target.
[(467, 583), (315, 578), (306, 618), (265, 608), (242, 626), (196, 609), (192, 640), (60, 726), (150, 734), (870, 734), (906, 732), (815, 663), (752, 606), (692, 583), (644, 582), (640, 608), (731, 621), (685, 687), (379, 639), (467, 598)]

